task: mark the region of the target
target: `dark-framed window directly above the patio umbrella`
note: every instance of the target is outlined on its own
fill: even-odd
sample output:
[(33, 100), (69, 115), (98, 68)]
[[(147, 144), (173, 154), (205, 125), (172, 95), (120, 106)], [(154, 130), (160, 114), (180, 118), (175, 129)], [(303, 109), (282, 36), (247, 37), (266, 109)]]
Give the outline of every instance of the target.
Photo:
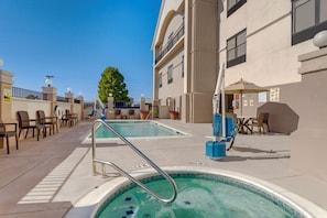
[(247, 61), (247, 30), (227, 40), (227, 67)]

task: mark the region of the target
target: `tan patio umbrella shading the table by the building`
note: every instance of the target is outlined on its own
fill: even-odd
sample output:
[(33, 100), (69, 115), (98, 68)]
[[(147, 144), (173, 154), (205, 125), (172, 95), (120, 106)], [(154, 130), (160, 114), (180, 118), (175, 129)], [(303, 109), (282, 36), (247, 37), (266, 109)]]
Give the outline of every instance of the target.
[(241, 116), (242, 116), (242, 95), (243, 94), (258, 94), (262, 91), (268, 91), (268, 89), (257, 86), (253, 83), (246, 81), (241, 78), (241, 80), (231, 84), (225, 88), (226, 94), (240, 94), (241, 95)]

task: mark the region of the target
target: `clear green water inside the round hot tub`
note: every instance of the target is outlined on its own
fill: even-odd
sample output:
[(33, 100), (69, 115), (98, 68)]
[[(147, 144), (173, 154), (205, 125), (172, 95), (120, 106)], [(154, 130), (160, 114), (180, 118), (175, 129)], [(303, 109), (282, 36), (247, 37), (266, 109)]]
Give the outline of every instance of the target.
[[(140, 218), (291, 218), (302, 217), (286, 203), (240, 182), (212, 175), (173, 175), (178, 187), (175, 201), (162, 204), (130, 185), (109, 198), (96, 217)], [(144, 182), (161, 196), (172, 195), (168, 183), (160, 177)]]

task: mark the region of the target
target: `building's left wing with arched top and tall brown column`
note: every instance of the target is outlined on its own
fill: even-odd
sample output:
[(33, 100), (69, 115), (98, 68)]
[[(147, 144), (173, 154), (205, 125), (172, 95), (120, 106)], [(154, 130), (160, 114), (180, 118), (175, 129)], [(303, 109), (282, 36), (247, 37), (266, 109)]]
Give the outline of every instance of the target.
[[(161, 105), (165, 105), (167, 97), (175, 99), (184, 122), (210, 122), (212, 110), (207, 106), (211, 105), (218, 74), (217, 0), (176, 2), (162, 3), (153, 42), (154, 58), (161, 43), (167, 42), (171, 30), (179, 28), (178, 24), (183, 21), (185, 32), (179, 43), (154, 66), (154, 99)], [(184, 77), (181, 72), (182, 55), (184, 55)], [(163, 77), (163, 87), (159, 88), (159, 74), (163, 72), (165, 75), (167, 66), (172, 63), (178, 66), (174, 68), (173, 84), (164, 87), (166, 78)]]

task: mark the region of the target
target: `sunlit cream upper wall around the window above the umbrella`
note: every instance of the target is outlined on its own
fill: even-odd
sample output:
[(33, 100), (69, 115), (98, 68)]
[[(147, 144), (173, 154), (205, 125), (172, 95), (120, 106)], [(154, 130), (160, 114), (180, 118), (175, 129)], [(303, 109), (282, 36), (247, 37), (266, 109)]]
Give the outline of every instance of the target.
[(308, 41), (292, 46), (291, 14), (291, 1), (269, 0), (247, 1), (228, 18), (227, 10), (220, 13), (220, 62), (226, 62), (227, 40), (247, 29), (247, 61), (226, 69), (227, 86), (240, 78), (263, 87), (301, 81), (297, 56), (315, 47)]

